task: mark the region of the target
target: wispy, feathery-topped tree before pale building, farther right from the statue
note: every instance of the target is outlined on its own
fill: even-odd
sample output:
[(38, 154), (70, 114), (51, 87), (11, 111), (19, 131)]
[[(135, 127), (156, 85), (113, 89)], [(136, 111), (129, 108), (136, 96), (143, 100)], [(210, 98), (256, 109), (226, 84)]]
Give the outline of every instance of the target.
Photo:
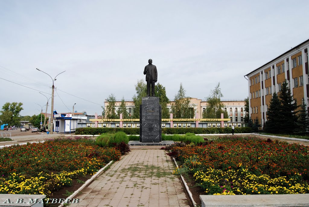
[(220, 83), (216, 85), (214, 90), (210, 91), (210, 95), (206, 98), (207, 106), (203, 113), (203, 118), (205, 119), (220, 119), (221, 114), (224, 115), (224, 118), (228, 118), (228, 114), (223, 110), (225, 105), (221, 102), (221, 93)]

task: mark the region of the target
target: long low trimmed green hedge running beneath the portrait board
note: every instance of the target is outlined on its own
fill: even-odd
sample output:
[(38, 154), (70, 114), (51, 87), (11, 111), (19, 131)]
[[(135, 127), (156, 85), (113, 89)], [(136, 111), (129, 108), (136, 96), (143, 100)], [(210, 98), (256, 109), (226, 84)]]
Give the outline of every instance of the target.
[[(80, 135), (98, 135), (98, 134), (115, 134), (116, 132), (125, 132), (127, 135), (138, 135), (139, 128), (77, 128), (75, 134)], [(209, 127), (209, 128), (162, 128), (162, 134), (186, 134), (186, 133), (194, 133), (194, 134), (231, 134), (231, 127)], [(250, 127), (235, 127), (235, 133), (250, 133)]]

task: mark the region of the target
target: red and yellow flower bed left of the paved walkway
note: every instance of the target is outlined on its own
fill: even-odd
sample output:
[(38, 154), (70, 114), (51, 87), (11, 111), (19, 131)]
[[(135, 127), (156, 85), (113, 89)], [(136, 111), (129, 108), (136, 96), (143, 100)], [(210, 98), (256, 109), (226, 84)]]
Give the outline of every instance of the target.
[(0, 149), (0, 194), (45, 194), (46, 197), (72, 179), (94, 174), (121, 153), (100, 148), (85, 138), (48, 140)]

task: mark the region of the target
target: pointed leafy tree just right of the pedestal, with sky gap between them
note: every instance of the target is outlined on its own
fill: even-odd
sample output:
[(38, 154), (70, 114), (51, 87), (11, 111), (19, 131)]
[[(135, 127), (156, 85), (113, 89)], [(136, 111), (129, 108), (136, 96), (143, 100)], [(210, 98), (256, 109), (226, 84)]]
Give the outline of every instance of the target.
[(180, 83), (178, 93), (174, 97), (175, 103), (171, 106), (174, 119), (192, 119), (194, 117), (195, 110), (190, 106), (190, 100), (190, 97), (186, 97), (186, 91)]

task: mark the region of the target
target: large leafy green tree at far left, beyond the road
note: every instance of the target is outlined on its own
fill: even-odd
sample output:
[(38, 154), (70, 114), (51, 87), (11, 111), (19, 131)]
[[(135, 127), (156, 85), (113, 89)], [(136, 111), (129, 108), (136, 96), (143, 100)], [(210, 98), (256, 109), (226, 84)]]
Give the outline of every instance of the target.
[[(20, 125), (20, 111), (23, 110), (23, 103), (19, 102), (6, 102), (3, 106), (2, 106), (2, 110), (0, 111), (1, 115), (6, 115), (8, 116), (9, 113), (7, 113), (8, 111), (12, 112), (11, 115), (11, 121), (10, 123), (8, 123), (9, 125), (16, 125), (19, 126)], [(6, 112), (6, 113), (4, 113)], [(2, 120), (2, 118), (0, 118)]]

